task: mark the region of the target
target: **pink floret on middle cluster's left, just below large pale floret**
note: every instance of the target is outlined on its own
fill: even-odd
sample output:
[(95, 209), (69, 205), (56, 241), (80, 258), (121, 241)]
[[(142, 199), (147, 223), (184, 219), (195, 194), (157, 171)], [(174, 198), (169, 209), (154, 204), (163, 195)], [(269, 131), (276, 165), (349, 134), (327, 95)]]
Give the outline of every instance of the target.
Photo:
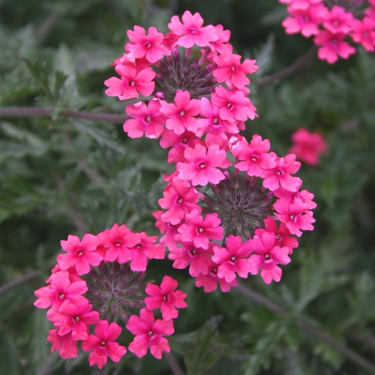
[(170, 222), (172, 225), (180, 223), (185, 213), (198, 208), (198, 193), (178, 178), (173, 179), (171, 184), (164, 189), (163, 196), (164, 198), (160, 198), (158, 203), (167, 211), (161, 215), (161, 220)]

